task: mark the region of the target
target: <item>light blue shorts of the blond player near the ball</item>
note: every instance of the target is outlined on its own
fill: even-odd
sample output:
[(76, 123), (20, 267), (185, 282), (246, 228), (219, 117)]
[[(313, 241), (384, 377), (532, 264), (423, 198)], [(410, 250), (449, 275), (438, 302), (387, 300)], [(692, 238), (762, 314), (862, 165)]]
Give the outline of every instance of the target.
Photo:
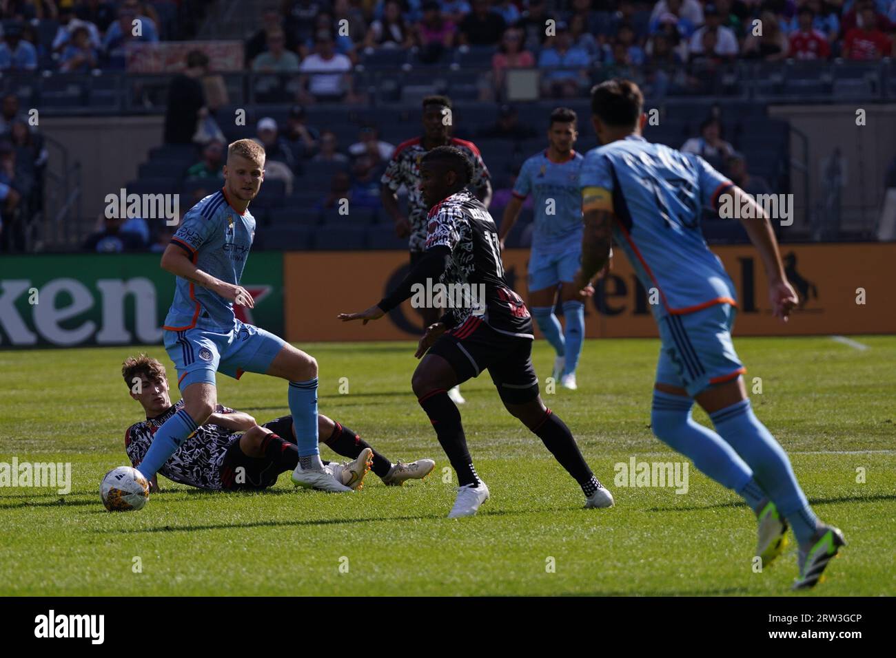
[(183, 391), (202, 381), (215, 383), (215, 372), (239, 379), (244, 372), (267, 372), (286, 344), (270, 331), (236, 320), (231, 331), (185, 329), (164, 333), (165, 349), (177, 368), (177, 386)]

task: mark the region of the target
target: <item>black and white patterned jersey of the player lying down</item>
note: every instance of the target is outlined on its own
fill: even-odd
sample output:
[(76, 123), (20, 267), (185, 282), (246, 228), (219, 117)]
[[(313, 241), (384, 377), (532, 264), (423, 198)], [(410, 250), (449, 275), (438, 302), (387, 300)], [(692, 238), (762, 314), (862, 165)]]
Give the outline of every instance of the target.
[[(136, 468), (150, 449), (152, 437), (172, 415), (184, 406), (184, 400), (177, 400), (174, 406), (164, 414), (155, 418), (147, 418), (142, 423), (134, 423), (125, 432), (125, 452)], [(233, 409), (218, 406), (216, 413), (232, 414)], [(189, 484), (200, 489), (219, 491), (222, 488), (220, 465), (228, 446), (238, 440), (238, 435), (219, 425), (202, 425), (193, 436), (185, 440), (177, 452), (164, 466), (159, 474), (172, 482)]]

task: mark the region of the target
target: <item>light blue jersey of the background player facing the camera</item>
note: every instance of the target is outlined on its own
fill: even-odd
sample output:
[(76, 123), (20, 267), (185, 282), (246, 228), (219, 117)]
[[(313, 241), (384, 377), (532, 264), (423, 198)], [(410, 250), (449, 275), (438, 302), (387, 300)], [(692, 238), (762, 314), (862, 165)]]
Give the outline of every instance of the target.
[[(513, 196), (525, 199), (532, 194), (535, 201), (535, 228), (532, 250), (538, 253), (560, 253), (582, 246), (582, 192), (579, 175), (581, 153), (570, 151), (565, 162), (547, 158), (547, 150), (527, 159), (513, 185)], [(552, 204), (548, 204), (553, 200)], [(553, 209), (554, 214), (547, 213)]]

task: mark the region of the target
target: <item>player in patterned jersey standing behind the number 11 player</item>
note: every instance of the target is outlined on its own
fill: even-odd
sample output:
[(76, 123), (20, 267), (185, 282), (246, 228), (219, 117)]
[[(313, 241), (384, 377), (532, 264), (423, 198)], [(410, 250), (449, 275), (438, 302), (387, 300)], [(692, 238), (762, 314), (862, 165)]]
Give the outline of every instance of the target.
[[(492, 199), (492, 185), (486, 163), (472, 141), (459, 140), (452, 137), (451, 99), (446, 96), (427, 96), (423, 99), (423, 135), (403, 141), (395, 148), (389, 165), (383, 172), (382, 192), (383, 208), (395, 222), (395, 232), (399, 237), (409, 238), (410, 266), (414, 267), (426, 251), (426, 212), (428, 208), (420, 195), (420, 158), (429, 150), (439, 146), (453, 146), (470, 158), (473, 163), (473, 176), (470, 188), (476, 190), (477, 198), (488, 208)], [(408, 191), (408, 217), (401, 214), (397, 192), (404, 186)], [(426, 329), (439, 318), (439, 309), (419, 309), (423, 315), (423, 328)], [(463, 397), (458, 388), (449, 391), (452, 400), (463, 404)]]

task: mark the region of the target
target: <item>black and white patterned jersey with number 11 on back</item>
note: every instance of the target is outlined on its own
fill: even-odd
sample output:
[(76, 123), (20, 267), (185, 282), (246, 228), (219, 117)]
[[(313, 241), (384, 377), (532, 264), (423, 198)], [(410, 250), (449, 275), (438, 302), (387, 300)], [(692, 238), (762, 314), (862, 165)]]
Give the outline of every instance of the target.
[[(461, 190), (441, 201), (429, 211), (426, 226), (426, 249), (445, 246), (451, 258), (439, 283), (460, 284), (456, 290), (470, 290), (470, 300), (478, 300), (484, 292), (485, 303), (464, 304), (461, 308), (443, 306), (450, 314), (452, 326), (459, 327), (475, 317), (503, 334), (534, 338), (529, 309), (504, 278), (504, 263), (495, 219), (469, 190)], [(481, 286), (480, 286), (481, 285)], [(448, 288), (448, 297), (452, 295)], [(477, 307), (478, 306), (478, 307)]]

